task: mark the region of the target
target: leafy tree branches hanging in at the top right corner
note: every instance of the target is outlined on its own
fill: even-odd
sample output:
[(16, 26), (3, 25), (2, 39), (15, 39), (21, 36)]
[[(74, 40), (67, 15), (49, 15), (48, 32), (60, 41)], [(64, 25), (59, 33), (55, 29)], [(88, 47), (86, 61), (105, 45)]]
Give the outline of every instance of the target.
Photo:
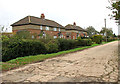
[(116, 2), (112, 2), (110, 0), (108, 0), (111, 4), (111, 7), (107, 7), (108, 9), (110, 9), (112, 11), (112, 14), (109, 15), (111, 16), (111, 18), (114, 18), (115, 20), (119, 20), (120, 18), (120, 1), (116, 1)]

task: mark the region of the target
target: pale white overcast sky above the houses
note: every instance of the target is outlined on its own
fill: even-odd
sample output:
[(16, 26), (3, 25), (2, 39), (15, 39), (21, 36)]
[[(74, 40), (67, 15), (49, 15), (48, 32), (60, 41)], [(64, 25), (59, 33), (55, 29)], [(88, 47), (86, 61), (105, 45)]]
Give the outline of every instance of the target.
[(83, 29), (93, 26), (97, 31), (105, 27), (112, 28), (118, 35), (118, 26), (108, 16), (111, 10), (108, 0), (0, 0), (0, 26), (12, 31), (10, 26), (14, 22), (31, 15), (40, 17), (45, 14), (46, 19), (54, 20), (66, 26), (76, 22)]

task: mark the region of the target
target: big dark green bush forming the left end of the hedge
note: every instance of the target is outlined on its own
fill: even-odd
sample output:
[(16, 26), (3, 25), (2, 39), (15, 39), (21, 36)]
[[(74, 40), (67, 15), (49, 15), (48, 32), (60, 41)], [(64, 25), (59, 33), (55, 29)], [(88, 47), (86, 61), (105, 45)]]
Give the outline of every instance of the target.
[[(9, 40), (8, 40), (9, 41)], [(40, 41), (13, 41), (9, 42), (7, 47), (2, 48), (2, 61), (8, 61), (17, 57), (29, 55), (44, 54), (46, 52), (45, 45)]]

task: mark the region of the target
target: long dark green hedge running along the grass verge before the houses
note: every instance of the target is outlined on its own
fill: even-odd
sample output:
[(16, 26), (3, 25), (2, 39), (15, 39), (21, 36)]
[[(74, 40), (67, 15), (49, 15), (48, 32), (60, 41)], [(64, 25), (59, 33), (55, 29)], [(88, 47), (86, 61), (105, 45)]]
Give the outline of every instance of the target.
[(58, 51), (74, 49), (78, 46), (89, 46), (91, 39), (20, 39), (18, 37), (2, 39), (2, 61), (8, 61), (17, 57), (24, 57), (37, 54), (49, 54)]

